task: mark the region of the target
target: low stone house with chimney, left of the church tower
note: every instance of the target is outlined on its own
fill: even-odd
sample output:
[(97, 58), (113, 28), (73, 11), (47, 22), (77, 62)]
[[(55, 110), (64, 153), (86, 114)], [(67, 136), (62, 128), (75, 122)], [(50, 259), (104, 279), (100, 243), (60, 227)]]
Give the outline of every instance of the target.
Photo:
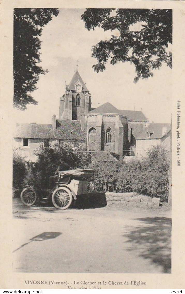
[(69, 143), (73, 148), (85, 148), (85, 133), (80, 121), (60, 121), (54, 115), (51, 124), (22, 123), (17, 124), (13, 138), (13, 147), (26, 160), (37, 161), (34, 151), (40, 146)]

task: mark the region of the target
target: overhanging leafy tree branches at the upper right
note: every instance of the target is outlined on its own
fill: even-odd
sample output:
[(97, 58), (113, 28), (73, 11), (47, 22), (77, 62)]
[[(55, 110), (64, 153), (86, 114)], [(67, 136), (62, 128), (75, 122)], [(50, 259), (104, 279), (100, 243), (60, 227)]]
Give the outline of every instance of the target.
[[(112, 35), (92, 46), (92, 57), (97, 64), (92, 68), (99, 72), (105, 70), (110, 59), (111, 64), (130, 62), (135, 65), (136, 77), (153, 76), (153, 70), (159, 69), (163, 62), (172, 68), (172, 53), (167, 51), (172, 44), (172, 9), (86, 9), (81, 15), (85, 28), (89, 31), (102, 27), (104, 31), (117, 29), (119, 36)], [(141, 22), (140, 31), (132, 30), (132, 25)]]

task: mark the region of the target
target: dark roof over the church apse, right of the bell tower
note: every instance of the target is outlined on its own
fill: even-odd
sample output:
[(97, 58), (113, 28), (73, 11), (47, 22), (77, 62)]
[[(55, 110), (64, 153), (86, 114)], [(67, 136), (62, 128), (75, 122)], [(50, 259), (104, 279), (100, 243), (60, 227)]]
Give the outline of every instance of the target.
[(123, 116), (127, 116), (129, 120), (147, 121), (147, 118), (144, 116), (142, 111), (120, 110), (109, 102), (104, 103), (97, 108), (94, 108), (92, 111), (90, 111), (90, 113), (118, 113)]

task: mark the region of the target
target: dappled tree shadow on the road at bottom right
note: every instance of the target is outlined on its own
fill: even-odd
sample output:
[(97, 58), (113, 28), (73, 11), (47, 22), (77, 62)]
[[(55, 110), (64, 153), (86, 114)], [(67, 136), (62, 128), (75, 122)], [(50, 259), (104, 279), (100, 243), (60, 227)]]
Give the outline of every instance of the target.
[(162, 266), (163, 273), (171, 273), (171, 218), (136, 218), (141, 225), (136, 228), (127, 227), (129, 233), (124, 234), (131, 244), (127, 250), (135, 250), (139, 256), (150, 259), (152, 263)]

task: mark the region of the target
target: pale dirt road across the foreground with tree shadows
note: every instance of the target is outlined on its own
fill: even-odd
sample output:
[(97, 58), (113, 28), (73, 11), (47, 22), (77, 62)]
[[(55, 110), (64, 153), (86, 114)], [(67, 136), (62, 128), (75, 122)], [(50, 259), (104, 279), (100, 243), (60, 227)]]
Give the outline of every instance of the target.
[[(14, 200), (17, 272), (170, 273), (164, 212), (24, 207)], [(39, 236), (38, 236), (39, 235)]]

